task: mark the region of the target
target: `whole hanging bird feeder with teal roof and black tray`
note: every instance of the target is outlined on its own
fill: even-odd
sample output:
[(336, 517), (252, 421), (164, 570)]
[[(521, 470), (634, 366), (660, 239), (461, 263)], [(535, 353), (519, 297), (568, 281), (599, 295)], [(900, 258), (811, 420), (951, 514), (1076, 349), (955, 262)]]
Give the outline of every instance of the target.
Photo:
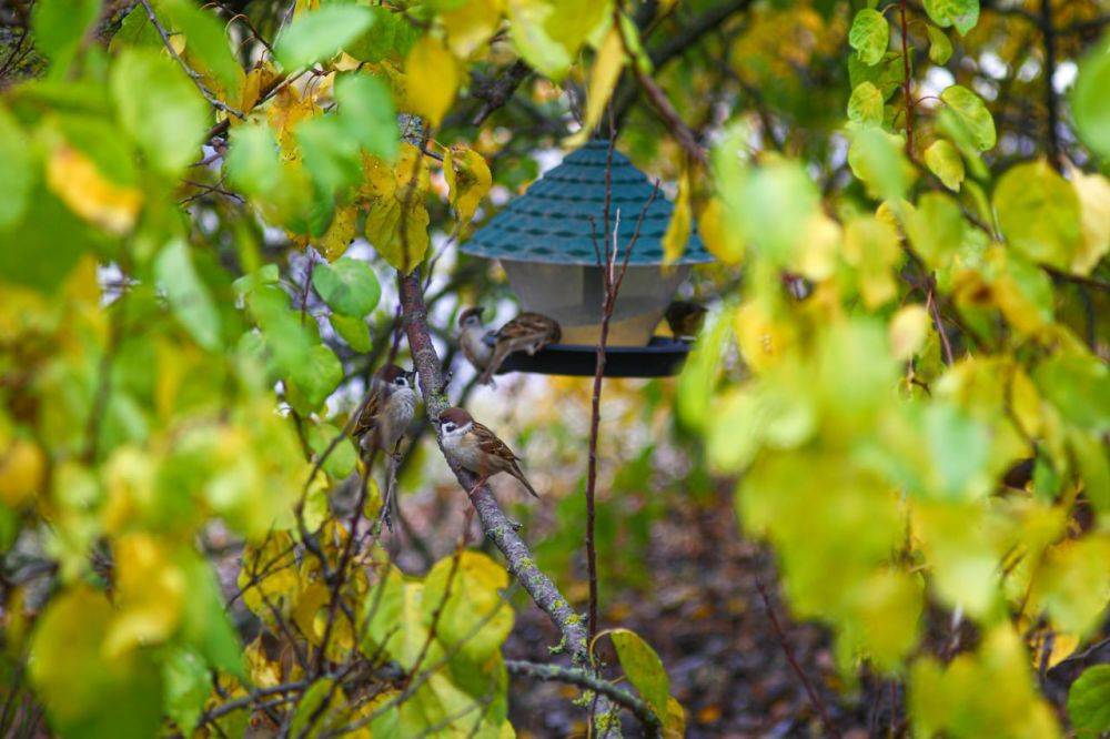
[[(604, 280), (596, 244), (612, 249), (617, 227), (620, 259), (644, 214), (620, 285), (606, 351), (606, 375), (655, 377), (675, 374), (689, 352), (686, 342), (653, 336), (690, 265), (712, 262), (697, 234), (683, 255), (663, 266), (663, 236), (674, 206), (628, 158), (614, 151), (608, 232), (606, 169), (609, 142), (593, 140), (511, 201), (462, 246), (475, 256), (501, 262), (525, 311), (558, 321), (562, 343), (534, 356), (514, 354), (504, 372), (593, 375), (601, 336)], [(648, 205), (650, 203), (650, 205)], [(644, 209), (647, 209), (646, 211)], [(619, 211), (619, 224), (617, 212)]]

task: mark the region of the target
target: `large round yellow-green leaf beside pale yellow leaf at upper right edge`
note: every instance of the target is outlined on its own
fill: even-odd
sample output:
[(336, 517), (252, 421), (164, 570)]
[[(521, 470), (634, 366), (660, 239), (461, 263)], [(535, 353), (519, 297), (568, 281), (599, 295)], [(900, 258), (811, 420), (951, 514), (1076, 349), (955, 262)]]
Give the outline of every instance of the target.
[(991, 198), (1009, 245), (1039, 264), (1068, 270), (1082, 249), (1079, 196), (1045, 161), (1007, 170)]

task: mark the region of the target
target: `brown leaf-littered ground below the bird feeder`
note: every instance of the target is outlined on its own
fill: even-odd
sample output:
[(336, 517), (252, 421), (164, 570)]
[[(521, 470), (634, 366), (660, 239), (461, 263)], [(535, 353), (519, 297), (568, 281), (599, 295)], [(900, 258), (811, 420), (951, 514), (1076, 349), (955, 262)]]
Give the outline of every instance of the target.
[[(722, 499), (708, 507), (689, 508), (653, 526), (643, 563), (653, 584), (650, 589), (607, 593), (599, 617), (602, 628), (629, 628), (658, 651), (670, 678), (672, 694), (686, 709), (687, 736), (740, 739), (830, 735), (786, 657), (760, 595), (760, 584), (795, 662), (840, 735), (852, 739), (889, 736), (890, 687), (872, 681), (847, 697), (837, 690), (839, 677), (828, 634), (790, 620), (778, 597), (773, 559), (764, 548), (743, 538), (731, 502)], [(414, 514), (414, 528), (422, 534), (436, 527), (418, 508), (410, 512)], [(437, 523), (442, 525), (443, 520)], [(397, 553), (403, 567), (413, 555), (411, 549), (404, 549), (408, 548)], [(578, 590), (584, 589), (583, 584)], [(603, 594), (606, 590), (603, 587)], [(566, 593), (576, 599), (577, 590)], [(584, 610), (584, 605), (579, 609)], [(517, 611), (505, 655), (509, 659), (549, 661), (548, 647), (557, 641), (547, 617), (525, 605)], [(518, 736), (585, 736), (585, 712), (572, 702), (578, 695), (576, 688), (514, 680), (509, 710)], [(902, 698), (899, 692), (899, 702)], [(899, 705), (899, 716), (901, 712)], [(640, 736), (635, 719), (625, 716), (625, 736)]]

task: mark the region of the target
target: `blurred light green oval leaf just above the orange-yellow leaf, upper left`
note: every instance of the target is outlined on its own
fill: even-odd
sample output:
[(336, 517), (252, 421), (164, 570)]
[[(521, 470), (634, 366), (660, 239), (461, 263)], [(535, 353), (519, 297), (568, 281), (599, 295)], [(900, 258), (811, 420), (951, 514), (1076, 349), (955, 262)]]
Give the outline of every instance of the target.
[(208, 104), (171, 59), (125, 49), (112, 64), (110, 84), (120, 122), (148, 162), (172, 175), (198, 158)]

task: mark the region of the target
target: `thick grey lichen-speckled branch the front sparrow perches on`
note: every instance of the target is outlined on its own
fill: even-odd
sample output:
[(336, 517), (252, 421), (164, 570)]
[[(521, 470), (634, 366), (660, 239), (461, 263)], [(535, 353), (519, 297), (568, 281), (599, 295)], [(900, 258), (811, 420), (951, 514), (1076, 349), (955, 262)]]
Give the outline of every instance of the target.
[[(424, 307), (424, 295), (421, 288), (420, 270), (401, 279), (401, 306), (404, 315), (405, 335), (408, 337), (408, 350), (412, 353), (413, 365), (420, 374), (421, 394), (424, 397), (425, 413), (435, 418), (451, 406), (443, 389), (443, 372), (440, 356), (432, 343), (427, 327), (427, 311)], [(441, 447), (441, 453), (442, 453)], [(444, 459), (458, 479), (464, 490), (470, 493), (471, 505), (478, 514), (482, 530), (504, 555), (508, 571), (521, 583), (532, 600), (547, 614), (562, 635), (561, 647), (569, 655), (575, 666), (589, 669), (589, 650), (586, 640), (586, 625), (575, 613), (555, 584), (536, 566), (535, 557), (528, 545), (516, 533), (516, 526), (505, 516), (497, 504), (488, 485), (475, 487), (476, 475), (453, 464), (446, 455)], [(598, 701), (597, 727), (599, 736), (606, 736), (613, 728), (618, 728), (613, 707), (607, 698)]]

